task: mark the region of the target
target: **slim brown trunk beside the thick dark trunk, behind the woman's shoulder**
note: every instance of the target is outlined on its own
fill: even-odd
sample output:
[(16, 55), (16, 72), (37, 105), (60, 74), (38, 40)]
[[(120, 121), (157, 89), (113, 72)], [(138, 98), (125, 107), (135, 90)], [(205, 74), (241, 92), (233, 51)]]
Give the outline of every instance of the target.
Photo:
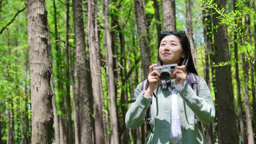
[[(205, 81), (210, 88), (210, 76), (209, 76), (209, 51), (212, 49), (211, 41), (212, 34), (211, 26), (212, 26), (210, 13), (206, 10), (203, 10), (203, 30), (204, 30), (204, 39), (205, 39)], [(206, 124), (206, 140), (207, 144), (214, 144), (214, 130), (213, 130), (213, 122)]]

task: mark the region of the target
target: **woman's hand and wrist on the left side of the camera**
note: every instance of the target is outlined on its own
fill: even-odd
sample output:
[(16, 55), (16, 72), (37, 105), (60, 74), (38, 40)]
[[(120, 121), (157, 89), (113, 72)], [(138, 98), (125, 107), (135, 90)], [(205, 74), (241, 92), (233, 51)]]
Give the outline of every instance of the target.
[(151, 97), (152, 94), (154, 93), (154, 90), (157, 88), (158, 84), (161, 84), (160, 80), (160, 72), (158, 71), (153, 71), (153, 67), (157, 66), (157, 63), (154, 63), (149, 66), (149, 74), (147, 75), (147, 80), (148, 80), (148, 88), (146, 92), (144, 93), (145, 97)]

